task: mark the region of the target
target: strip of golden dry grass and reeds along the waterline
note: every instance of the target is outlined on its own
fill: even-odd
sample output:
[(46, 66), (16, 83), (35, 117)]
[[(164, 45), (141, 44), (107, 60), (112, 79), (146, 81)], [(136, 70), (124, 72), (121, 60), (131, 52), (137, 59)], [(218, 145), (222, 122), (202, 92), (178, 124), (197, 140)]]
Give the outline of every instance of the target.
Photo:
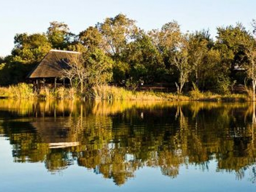
[(94, 99), (94, 100), (162, 100), (162, 101), (214, 101), (214, 102), (245, 102), (251, 101), (246, 94), (215, 94), (190, 91), (188, 94), (125, 90), (115, 86), (96, 86), (90, 91), (79, 94), (74, 88), (45, 88), (36, 93), (31, 84), (18, 84), (0, 87), (0, 98), (40, 98), (46, 99)]

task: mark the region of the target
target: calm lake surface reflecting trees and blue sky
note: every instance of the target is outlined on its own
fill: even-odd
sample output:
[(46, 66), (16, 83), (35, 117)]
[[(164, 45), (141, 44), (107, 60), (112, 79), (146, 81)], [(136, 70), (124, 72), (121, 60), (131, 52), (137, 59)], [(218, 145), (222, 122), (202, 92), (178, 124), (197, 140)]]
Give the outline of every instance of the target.
[(0, 100), (0, 191), (255, 191), (252, 103)]

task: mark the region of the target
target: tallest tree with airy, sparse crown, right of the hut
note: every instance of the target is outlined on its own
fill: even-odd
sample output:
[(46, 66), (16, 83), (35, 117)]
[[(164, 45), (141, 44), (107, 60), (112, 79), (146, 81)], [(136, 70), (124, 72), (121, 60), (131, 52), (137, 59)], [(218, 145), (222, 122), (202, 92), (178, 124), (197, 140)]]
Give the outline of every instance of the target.
[(118, 14), (114, 18), (106, 18), (103, 23), (96, 25), (103, 36), (103, 48), (114, 60), (114, 82), (122, 84), (126, 79), (128, 64), (124, 58), (127, 45), (134, 41), (138, 32), (135, 21), (127, 18), (124, 14)]

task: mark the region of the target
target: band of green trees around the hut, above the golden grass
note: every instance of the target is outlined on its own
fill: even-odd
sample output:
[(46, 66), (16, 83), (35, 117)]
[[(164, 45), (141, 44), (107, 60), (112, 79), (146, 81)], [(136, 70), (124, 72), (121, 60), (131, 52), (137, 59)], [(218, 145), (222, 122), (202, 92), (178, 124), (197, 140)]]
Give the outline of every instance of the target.
[[(164, 82), (181, 93), (194, 83), (201, 91), (228, 93), (247, 82), (255, 93), (255, 20), (252, 26), (253, 32), (241, 23), (218, 27), (213, 39), (208, 30), (182, 33), (176, 21), (146, 32), (123, 14), (79, 34), (54, 21), (45, 33), (16, 34), (11, 55), (0, 58), (0, 86), (24, 82), (50, 49), (60, 49), (81, 52), (93, 79), (100, 77), (96, 82), (82, 78), (84, 86), (111, 82), (135, 90), (141, 83)], [(98, 65), (103, 78), (96, 73)]]

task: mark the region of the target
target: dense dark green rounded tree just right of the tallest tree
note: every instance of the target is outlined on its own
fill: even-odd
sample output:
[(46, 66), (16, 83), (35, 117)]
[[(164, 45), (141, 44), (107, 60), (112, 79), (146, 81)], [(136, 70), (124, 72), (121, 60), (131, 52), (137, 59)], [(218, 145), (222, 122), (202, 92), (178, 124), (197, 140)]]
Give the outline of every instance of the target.
[(157, 47), (152, 43), (152, 38), (142, 30), (134, 42), (128, 44), (124, 58), (129, 66), (126, 83), (133, 85), (134, 89), (141, 82), (154, 82), (160, 76), (160, 69), (164, 68), (162, 58)]

